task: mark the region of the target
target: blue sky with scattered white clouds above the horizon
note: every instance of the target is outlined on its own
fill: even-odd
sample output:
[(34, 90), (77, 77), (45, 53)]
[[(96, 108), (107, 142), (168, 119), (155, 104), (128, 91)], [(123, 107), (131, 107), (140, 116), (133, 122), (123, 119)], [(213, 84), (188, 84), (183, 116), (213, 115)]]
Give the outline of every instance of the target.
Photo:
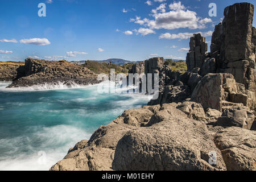
[[(143, 61), (156, 56), (184, 60), (189, 37), (201, 32), (209, 47), (225, 7), (237, 2), (1, 0), (0, 61)], [(39, 3), (45, 3), (46, 16), (38, 15)], [(216, 3), (216, 16), (209, 16), (210, 3)]]

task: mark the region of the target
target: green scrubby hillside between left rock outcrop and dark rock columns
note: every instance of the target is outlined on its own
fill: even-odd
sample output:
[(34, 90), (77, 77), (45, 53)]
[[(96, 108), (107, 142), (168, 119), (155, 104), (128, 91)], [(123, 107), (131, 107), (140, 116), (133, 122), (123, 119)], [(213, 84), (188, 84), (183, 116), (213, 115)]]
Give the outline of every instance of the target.
[(86, 61), (82, 64), (83, 67), (90, 69), (97, 74), (107, 73), (110, 74), (110, 69), (115, 69), (115, 73), (125, 73), (127, 74), (129, 69), (131, 69), (134, 63), (127, 63), (124, 65), (108, 64), (108, 63), (98, 63), (97, 61)]

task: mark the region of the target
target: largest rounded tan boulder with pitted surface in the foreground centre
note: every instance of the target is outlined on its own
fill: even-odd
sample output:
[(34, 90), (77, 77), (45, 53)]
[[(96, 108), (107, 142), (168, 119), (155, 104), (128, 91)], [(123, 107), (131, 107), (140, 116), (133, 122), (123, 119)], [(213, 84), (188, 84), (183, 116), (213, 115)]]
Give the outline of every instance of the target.
[[(213, 136), (193, 119), (172, 117), (179, 110), (160, 110), (156, 122), (130, 130), (115, 150), (115, 170), (225, 170), (225, 163)], [(215, 151), (218, 162), (209, 159)]]

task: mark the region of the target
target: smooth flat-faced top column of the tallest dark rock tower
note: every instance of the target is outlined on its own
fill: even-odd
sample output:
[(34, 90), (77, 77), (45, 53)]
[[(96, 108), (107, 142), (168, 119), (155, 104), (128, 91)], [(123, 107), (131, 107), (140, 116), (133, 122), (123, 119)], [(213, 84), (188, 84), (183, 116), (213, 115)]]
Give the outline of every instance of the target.
[(254, 6), (250, 3), (236, 3), (224, 10), (224, 59), (227, 61), (247, 60), (252, 53)]

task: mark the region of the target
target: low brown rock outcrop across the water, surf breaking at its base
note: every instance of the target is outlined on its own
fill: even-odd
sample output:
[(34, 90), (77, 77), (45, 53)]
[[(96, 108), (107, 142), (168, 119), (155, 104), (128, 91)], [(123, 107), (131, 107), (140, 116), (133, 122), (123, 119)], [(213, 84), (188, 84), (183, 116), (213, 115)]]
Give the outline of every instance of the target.
[[(19, 69), (17, 69), (19, 73)], [(23, 77), (13, 80), (11, 87), (27, 87), (32, 85), (59, 84), (65, 85), (96, 84), (97, 75), (88, 68), (68, 63), (67, 61), (46, 61), (26, 59)]]

